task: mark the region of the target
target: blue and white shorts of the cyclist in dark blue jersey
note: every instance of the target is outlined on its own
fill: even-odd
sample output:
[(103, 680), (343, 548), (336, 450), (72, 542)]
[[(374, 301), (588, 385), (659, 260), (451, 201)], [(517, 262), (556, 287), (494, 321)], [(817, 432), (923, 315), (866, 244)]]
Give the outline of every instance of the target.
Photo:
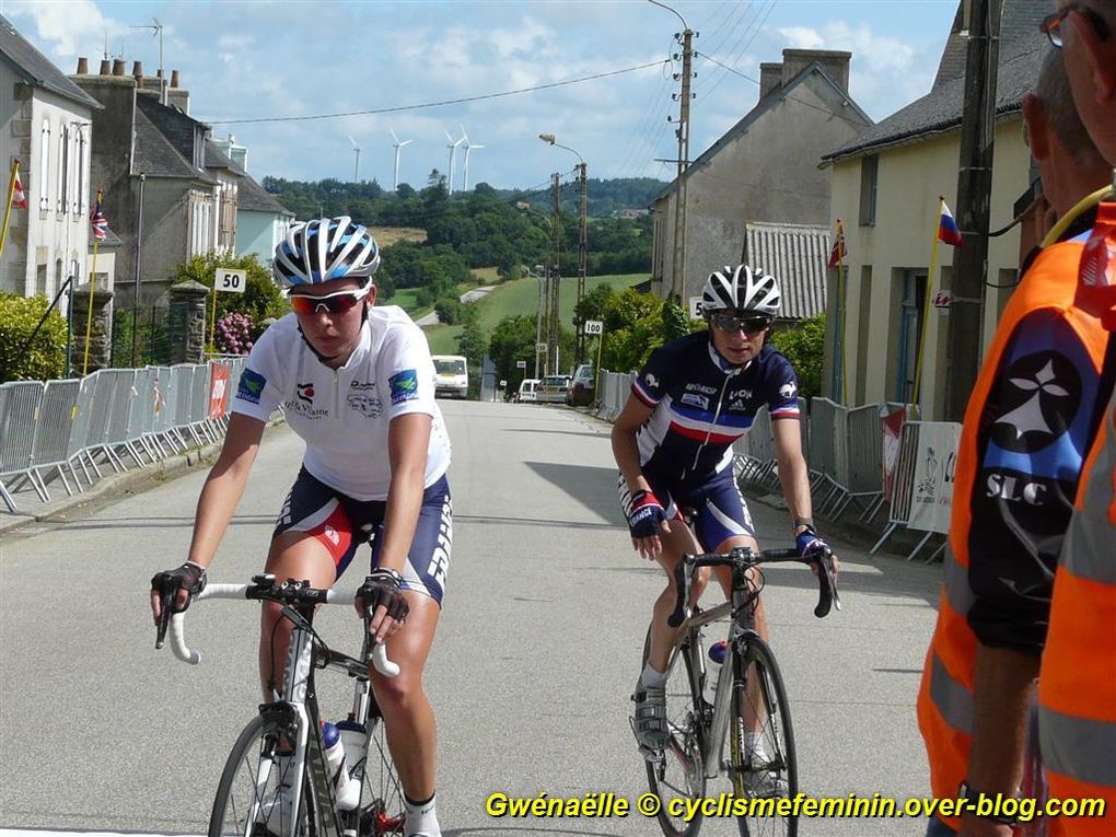
[[(723, 474), (723, 475), (722, 475)], [(756, 537), (748, 503), (732, 478), (732, 469), (700, 485), (680, 487), (672, 480), (644, 472), (652, 493), (658, 498), (667, 520), (682, 520), (683, 510), (694, 512), (694, 533), (703, 549), (716, 549), (729, 538)], [(632, 513), (632, 492), (624, 477), (617, 484), (625, 520)]]

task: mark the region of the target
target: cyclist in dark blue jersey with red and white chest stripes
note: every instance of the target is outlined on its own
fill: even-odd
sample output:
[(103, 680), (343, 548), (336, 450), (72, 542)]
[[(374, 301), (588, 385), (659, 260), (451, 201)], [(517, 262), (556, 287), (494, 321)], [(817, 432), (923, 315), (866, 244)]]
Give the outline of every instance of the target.
[[(787, 358), (764, 345), (779, 302), (779, 283), (761, 268), (740, 264), (711, 273), (702, 292), (709, 330), (655, 349), (613, 426), (632, 546), (657, 561), (667, 578), (655, 600), (647, 664), (633, 695), (636, 740), (646, 753), (670, 740), (664, 687), (675, 635), (666, 624), (675, 602), (675, 564), (684, 552), (759, 548), (748, 504), (733, 479), (732, 443), (748, 432), (762, 407), (771, 415), (779, 481), (798, 550), (805, 556), (826, 547), (811, 519), (798, 379)], [(683, 525), (687, 509), (695, 513), (701, 543)], [(705, 580), (695, 584), (695, 600)], [(721, 584), (727, 593), (731, 589), (727, 573)], [(762, 604), (757, 629), (767, 638)]]

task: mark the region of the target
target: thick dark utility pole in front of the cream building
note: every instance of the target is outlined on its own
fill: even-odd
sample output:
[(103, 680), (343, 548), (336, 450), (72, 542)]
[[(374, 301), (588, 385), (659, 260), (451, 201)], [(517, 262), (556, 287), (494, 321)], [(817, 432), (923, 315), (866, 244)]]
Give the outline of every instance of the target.
[[(981, 357), (1001, 3), (1002, 0), (969, 0), (969, 55), (958, 169), (958, 227), (964, 244), (953, 260), (945, 369), (944, 419), (951, 422), (964, 419)], [(929, 281), (933, 279), (930, 277)]]

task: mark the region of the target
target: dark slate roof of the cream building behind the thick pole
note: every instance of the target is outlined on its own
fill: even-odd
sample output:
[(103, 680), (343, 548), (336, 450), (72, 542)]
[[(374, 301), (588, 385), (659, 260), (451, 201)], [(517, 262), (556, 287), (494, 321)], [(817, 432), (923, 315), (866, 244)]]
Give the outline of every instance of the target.
[[(1042, 59), (1051, 49), (1050, 41), (1038, 31), (1038, 25), (1050, 13), (1048, 0), (1003, 0), (1000, 26), (1000, 61), (997, 74), (995, 112), (1002, 116), (1022, 107), (1023, 94), (1038, 78)], [(922, 137), (947, 133), (961, 125), (964, 107), (964, 69), (968, 41), (956, 31), (961, 11), (954, 20), (954, 31), (945, 45), (937, 78), (929, 94), (896, 110), (836, 151), (825, 154), (824, 163), (870, 154), (891, 145), (914, 142)]]

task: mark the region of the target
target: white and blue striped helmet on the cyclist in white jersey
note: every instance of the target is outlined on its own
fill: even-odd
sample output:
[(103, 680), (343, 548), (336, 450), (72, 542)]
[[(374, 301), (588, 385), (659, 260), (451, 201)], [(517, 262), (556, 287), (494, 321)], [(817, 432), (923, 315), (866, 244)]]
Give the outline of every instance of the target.
[(348, 215), (295, 224), (276, 248), (280, 285), (317, 285), (334, 279), (367, 279), (379, 268), (379, 247), (368, 229)]

